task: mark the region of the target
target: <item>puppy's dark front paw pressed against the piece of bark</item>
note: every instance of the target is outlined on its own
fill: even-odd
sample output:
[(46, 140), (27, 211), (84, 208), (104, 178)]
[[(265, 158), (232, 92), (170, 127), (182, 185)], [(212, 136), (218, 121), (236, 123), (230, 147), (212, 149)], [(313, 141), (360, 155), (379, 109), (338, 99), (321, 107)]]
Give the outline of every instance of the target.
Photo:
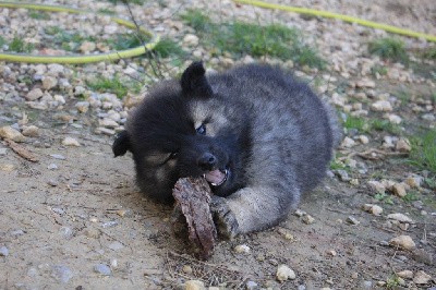
[(214, 195), (210, 202), (210, 212), (218, 234), (225, 239), (233, 239), (239, 232), (239, 223), (226, 198)]

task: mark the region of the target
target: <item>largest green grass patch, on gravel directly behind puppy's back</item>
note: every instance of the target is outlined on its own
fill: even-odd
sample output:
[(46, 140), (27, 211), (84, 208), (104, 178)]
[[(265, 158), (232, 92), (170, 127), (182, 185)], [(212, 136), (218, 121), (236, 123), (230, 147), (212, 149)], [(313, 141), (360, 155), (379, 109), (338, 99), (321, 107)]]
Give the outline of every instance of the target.
[(303, 36), (295, 28), (241, 21), (215, 23), (199, 10), (190, 10), (181, 19), (196, 31), (202, 44), (216, 55), (269, 56), (318, 69), (326, 64), (318, 52), (303, 41)]

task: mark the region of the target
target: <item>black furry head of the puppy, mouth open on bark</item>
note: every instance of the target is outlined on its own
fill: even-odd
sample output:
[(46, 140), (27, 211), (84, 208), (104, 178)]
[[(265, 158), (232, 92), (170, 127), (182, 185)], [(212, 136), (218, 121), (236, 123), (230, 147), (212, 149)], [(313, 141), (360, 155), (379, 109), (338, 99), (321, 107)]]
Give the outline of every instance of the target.
[(165, 82), (147, 96), (116, 138), (117, 156), (132, 152), (141, 189), (172, 201), (179, 178), (205, 177), (213, 191), (227, 196), (240, 186), (240, 135), (226, 100), (215, 94), (202, 62), (180, 82)]

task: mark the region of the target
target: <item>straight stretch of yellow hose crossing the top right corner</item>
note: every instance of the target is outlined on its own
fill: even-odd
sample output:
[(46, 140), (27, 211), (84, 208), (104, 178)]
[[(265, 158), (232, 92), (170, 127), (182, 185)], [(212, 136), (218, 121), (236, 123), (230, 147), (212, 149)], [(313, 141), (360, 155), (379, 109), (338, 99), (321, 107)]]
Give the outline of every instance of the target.
[(424, 39), (427, 39), (428, 41), (436, 43), (436, 36), (434, 36), (434, 35), (416, 33), (413, 31), (403, 29), (400, 27), (396, 27), (396, 26), (391, 26), (391, 25), (387, 25), (387, 24), (383, 24), (383, 23), (366, 21), (366, 20), (362, 20), (362, 19), (348, 16), (348, 15), (328, 12), (328, 11), (320, 11), (320, 10), (308, 9), (308, 8), (288, 7), (288, 5), (281, 5), (281, 4), (275, 4), (275, 3), (267, 3), (267, 2), (257, 1), (257, 0), (233, 0), (233, 1), (237, 3), (241, 3), (241, 4), (250, 4), (250, 5), (267, 8), (267, 9), (277, 9), (277, 10), (295, 12), (295, 13), (301, 13), (301, 14), (308, 14), (308, 15), (322, 16), (322, 17), (327, 17), (327, 19), (342, 20), (344, 22), (358, 23), (363, 26), (383, 29), (385, 32), (405, 35), (405, 36), (410, 36), (410, 37), (424, 38)]

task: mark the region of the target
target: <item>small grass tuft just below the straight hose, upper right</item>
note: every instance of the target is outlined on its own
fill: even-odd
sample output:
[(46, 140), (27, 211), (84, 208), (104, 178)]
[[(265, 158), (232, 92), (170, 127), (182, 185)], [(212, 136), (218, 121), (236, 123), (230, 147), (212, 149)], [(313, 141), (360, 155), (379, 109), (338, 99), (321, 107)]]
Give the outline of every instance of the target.
[(370, 53), (379, 56), (382, 59), (396, 62), (409, 63), (404, 43), (398, 38), (385, 37), (368, 44)]

